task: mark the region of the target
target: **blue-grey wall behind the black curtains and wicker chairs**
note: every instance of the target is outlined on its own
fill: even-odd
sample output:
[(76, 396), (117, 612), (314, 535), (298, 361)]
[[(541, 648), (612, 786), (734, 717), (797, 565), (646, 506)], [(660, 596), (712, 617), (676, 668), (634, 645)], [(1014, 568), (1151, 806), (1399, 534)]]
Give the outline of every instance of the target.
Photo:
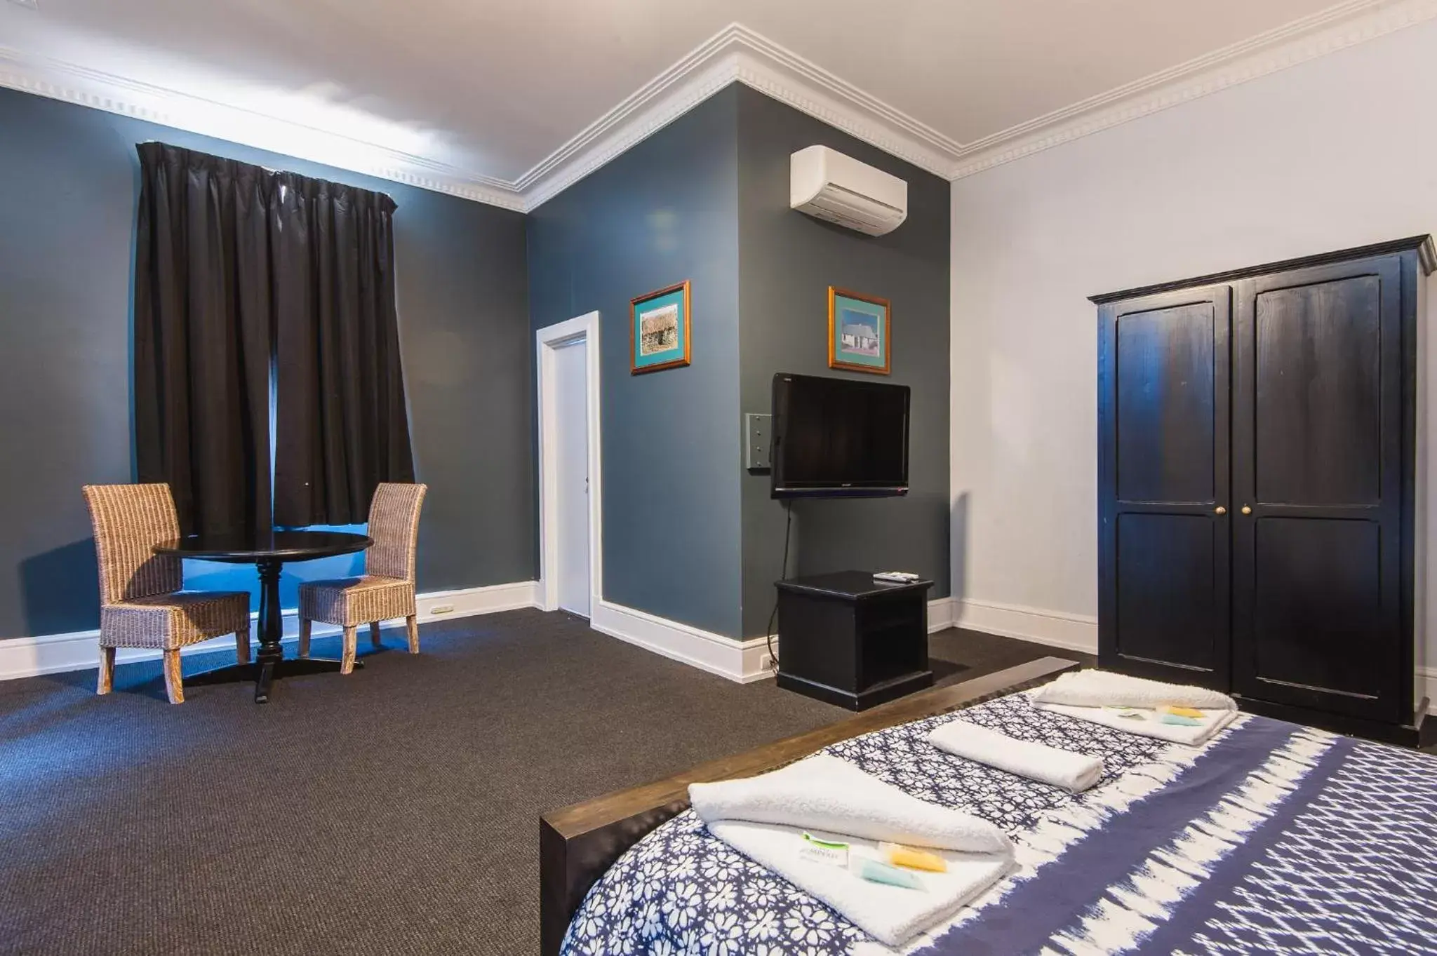
[[(86, 482), (134, 479), (138, 161), (162, 139), (388, 192), (421, 590), (536, 577), (525, 217), (0, 90), (0, 637), (98, 626)], [(303, 566), (286, 568), (286, 594)], [(292, 600), (292, 599), (290, 599)]]

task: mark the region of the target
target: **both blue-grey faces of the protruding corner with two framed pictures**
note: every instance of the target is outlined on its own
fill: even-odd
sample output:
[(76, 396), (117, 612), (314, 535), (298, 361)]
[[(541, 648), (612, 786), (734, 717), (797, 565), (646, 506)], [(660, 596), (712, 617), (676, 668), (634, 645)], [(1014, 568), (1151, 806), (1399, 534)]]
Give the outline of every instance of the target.
[[(833, 146), (908, 182), (910, 215), (865, 237), (789, 208), (789, 156)], [(690, 278), (694, 363), (629, 375), (629, 299)], [(828, 369), (828, 287), (892, 301), (912, 388), (905, 498), (795, 507), (790, 571), (908, 568), (948, 593), (948, 184), (731, 85), (530, 214), (535, 327), (599, 310), (604, 594), (727, 637), (766, 633), (783, 551), (743, 412), (775, 372)]]

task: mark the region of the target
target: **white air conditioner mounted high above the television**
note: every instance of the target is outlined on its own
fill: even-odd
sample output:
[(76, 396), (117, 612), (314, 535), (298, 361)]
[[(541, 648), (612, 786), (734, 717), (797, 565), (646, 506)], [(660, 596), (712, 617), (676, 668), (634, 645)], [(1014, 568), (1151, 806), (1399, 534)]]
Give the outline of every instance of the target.
[(908, 184), (828, 146), (809, 146), (793, 154), (789, 205), (868, 235), (884, 235), (908, 218)]

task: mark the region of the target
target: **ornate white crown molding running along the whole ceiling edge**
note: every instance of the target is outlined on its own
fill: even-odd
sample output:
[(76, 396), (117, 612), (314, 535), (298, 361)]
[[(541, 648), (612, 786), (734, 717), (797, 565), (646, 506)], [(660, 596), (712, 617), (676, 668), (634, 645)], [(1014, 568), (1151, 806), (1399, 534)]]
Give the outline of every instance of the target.
[(529, 211), (733, 82), (921, 169), (957, 179), (1433, 17), (1437, 17), (1437, 0), (1345, 0), (970, 144), (944, 136), (798, 53), (733, 23), (513, 182), (283, 116), (4, 47), (0, 47), (0, 86)]

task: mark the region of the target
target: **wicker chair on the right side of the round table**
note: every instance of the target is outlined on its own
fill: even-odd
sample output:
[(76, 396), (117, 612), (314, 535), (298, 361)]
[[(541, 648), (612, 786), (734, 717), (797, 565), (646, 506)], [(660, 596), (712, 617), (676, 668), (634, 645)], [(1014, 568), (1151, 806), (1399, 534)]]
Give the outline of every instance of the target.
[(299, 586), (299, 656), (309, 656), (313, 622), (345, 629), (339, 673), (355, 667), (356, 629), (369, 624), (369, 640), (379, 646), (379, 622), (404, 617), (410, 653), (420, 653), (420, 619), (414, 604), (414, 553), (420, 541), (420, 505), (428, 485), (384, 482), (369, 504), (369, 537), (365, 573), (333, 581)]

